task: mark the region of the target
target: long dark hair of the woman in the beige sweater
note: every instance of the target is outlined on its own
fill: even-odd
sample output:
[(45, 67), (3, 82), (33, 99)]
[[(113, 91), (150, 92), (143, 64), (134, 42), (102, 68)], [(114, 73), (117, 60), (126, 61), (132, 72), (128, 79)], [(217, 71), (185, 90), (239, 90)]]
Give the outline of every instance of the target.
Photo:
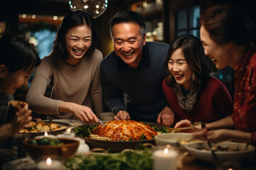
[(97, 45), (97, 28), (95, 27), (92, 16), (90, 16), (90, 14), (86, 13), (85, 11), (72, 11), (63, 18), (63, 21), (58, 28), (56, 40), (53, 42), (53, 52), (57, 54), (59, 59), (68, 59), (68, 50), (65, 46), (65, 35), (68, 33), (68, 30), (83, 24), (86, 24), (92, 29), (92, 43), (89, 50), (87, 50), (85, 53), (85, 56), (90, 57), (92, 52), (95, 51), (95, 47)]

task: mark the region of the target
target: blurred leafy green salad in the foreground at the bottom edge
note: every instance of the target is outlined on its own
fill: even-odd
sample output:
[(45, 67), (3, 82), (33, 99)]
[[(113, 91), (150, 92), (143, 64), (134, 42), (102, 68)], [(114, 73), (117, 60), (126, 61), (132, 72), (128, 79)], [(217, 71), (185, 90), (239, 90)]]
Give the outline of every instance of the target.
[(65, 162), (69, 170), (151, 170), (153, 158), (151, 150), (145, 147), (142, 150), (122, 153), (78, 155)]

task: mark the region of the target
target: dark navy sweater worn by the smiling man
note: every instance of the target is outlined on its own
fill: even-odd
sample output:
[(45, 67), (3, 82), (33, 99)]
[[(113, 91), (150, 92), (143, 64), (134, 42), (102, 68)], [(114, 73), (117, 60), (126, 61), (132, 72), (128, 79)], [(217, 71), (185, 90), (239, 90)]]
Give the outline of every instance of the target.
[(161, 83), (166, 76), (169, 45), (146, 42), (137, 69), (129, 69), (113, 51), (101, 63), (102, 88), (107, 106), (115, 114), (127, 111), (131, 120), (156, 122), (166, 106)]

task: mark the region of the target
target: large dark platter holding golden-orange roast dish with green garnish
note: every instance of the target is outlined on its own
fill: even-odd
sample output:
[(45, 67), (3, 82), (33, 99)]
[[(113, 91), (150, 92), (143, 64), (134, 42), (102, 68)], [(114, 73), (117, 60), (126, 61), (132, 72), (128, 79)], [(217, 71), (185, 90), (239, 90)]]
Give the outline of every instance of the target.
[(73, 131), (78, 137), (85, 139), (90, 149), (110, 149), (110, 152), (134, 149), (140, 143), (155, 145), (154, 137), (156, 135), (169, 132), (164, 125), (134, 120), (111, 120), (105, 123), (105, 126), (91, 124), (74, 128)]

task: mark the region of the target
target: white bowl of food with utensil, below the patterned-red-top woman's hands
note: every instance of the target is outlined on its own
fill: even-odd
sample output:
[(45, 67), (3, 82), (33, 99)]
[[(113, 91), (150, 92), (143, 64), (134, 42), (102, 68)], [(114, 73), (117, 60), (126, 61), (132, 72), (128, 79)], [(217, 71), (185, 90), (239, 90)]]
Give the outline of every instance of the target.
[[(215, 154), (220, 162), (238, 162), (245, 159), (250, 159), (255, 152), (255, 147), (240, 142), (219, 142), (211, 143), (213, 147), (230, 147), (232, 149), (238, 148), (240, 151), (222, 152), (216, 151)], [(205, 162), (214, 163), (213, 155), (210, 150), (201, 150), (198, 148), (209, 149), (207, 142), (191, 143), (185, 146), (192, 157)]]

